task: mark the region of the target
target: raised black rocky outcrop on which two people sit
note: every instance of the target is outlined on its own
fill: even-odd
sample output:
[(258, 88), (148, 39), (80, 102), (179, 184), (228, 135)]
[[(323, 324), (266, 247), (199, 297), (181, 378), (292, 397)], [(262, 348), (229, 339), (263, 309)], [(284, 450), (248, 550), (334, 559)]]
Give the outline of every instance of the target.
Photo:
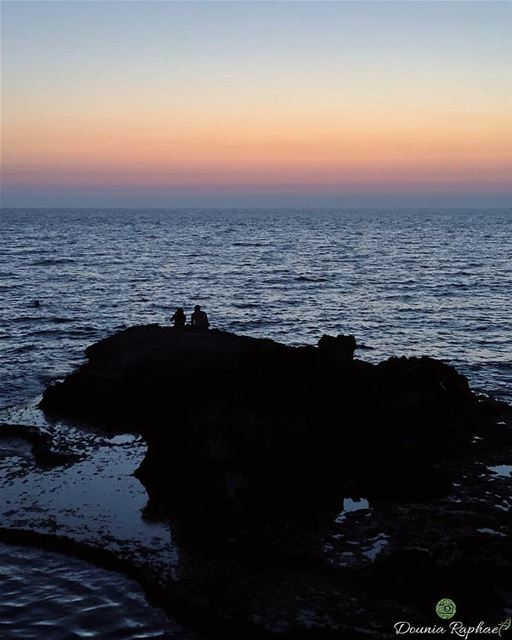
[(446, 495), (447, 461), (472, 435), (467, 380), (427, 357), (354, 360), (355, 348), (353, 336), (291, 347), (134, 327), (89, 347), (41, 406), (141, 432), (138, 476), (171, 510), (246, 522), (335, 510), (350, 495)]

